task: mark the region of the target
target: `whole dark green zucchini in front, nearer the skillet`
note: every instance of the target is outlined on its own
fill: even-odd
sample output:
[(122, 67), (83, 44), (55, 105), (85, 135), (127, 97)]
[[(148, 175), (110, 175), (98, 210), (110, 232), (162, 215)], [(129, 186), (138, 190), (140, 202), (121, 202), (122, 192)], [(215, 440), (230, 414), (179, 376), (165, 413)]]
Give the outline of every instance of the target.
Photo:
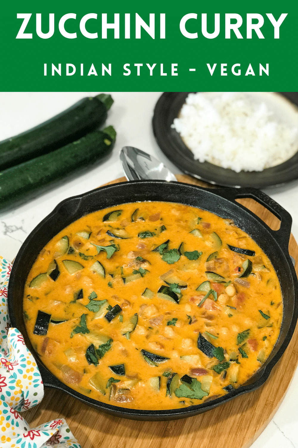
[(103, 159), (113, 148), (113, 126), (94, 131), (76, 142), (0, 172), (0, 209), (37, 196), (67, 176)]

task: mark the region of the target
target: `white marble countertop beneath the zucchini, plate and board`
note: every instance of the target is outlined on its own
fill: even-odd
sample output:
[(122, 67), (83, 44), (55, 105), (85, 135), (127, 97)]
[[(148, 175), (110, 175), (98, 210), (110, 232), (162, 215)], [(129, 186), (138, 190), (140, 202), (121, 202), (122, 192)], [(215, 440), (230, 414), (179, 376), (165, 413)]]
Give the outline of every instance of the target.
[[(0, 93), (0, 140), (19, 134), (61, 112), (84, 96), (98, 92), (2, 92)], [(113, 92), (114, 104), (107, 125), (117, 130), (112, 156), (103, 164), (15, 208), (0, 212), (0, 255), (12, 261), (34, 227), (63, 199), (92, 190), (123, 176), (118, 154), (122, 146), (136, 146), (159, 158), (172, 172), (179, 170), (157, 146), (151, 118), (161, 92)], [(298, 184), (264, 190), (293, 218), (292, 233), (298, 241)], [(297, 382), (296, 382), (297, 380)], [(278, 384), (277, 384), (278, 387)], [(280, 408), (252, 448), (298, 448), (298, 371)]]

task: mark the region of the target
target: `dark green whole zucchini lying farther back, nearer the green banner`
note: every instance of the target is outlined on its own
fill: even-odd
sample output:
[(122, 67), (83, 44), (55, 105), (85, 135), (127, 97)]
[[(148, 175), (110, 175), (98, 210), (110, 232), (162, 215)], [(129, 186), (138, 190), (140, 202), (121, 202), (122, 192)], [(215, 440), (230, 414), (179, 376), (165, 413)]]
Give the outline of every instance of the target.
[(0, 142), (0, 170), (74, 142), (104, 123), (111, 95), (83, 98), (35, 128)]

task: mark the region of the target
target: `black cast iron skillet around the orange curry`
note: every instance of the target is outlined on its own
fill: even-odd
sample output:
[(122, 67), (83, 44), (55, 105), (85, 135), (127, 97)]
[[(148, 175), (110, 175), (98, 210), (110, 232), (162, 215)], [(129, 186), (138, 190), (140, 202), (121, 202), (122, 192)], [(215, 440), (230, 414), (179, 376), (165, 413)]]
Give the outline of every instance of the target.
[[(281, 220), (280, 229), (277, 231), (271, 230), (251, 211), (235, 202), (235, 198), (253, 198), (260, 202)], [(245, 385), (215, 400), (205, 401), (202, 404), (183, 409), (138, 410), (101, 403), (81, 395), (61, 383), (46, 369), (35, 354), (44, 385), (61, 389), (84, 403), (109, 414), (136, 420), (171, 420), (193, 416), (213, 409), (235, 396), (260, 387), (284, 353), (293, 335), (298, 317), (298, 282), (288, 252), (291, 216), (273, 199), (252, 188), (211, 190), (179, 182), (133, 181), (101, 187), (80, 196), (65, 199), (30, 233), (13, 263), (8, 284), (8, 310), (12, 325), (20, 330), (27, 347), (34, 353), (22, 317), (22, 300), (25, 280), (40, 250), (60, 230), (81, 216), (106, 207), (134, 201), (180, 202), (193, 207), (200, 207), (223, 218), (234, 220), (239, 228), (251, 235), (270, 258), (281, 284), (284, 316), (277, 343), (267, 361)]]

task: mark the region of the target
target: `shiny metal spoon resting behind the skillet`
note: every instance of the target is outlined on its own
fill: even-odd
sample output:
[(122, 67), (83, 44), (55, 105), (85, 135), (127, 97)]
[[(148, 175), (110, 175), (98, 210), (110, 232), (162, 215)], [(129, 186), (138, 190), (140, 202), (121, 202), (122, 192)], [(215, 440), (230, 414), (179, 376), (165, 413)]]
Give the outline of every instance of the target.
[(177, 181), (174, 174), (147, 152), (124, 146), (119, 154), (128, 181), (159, 179)]

